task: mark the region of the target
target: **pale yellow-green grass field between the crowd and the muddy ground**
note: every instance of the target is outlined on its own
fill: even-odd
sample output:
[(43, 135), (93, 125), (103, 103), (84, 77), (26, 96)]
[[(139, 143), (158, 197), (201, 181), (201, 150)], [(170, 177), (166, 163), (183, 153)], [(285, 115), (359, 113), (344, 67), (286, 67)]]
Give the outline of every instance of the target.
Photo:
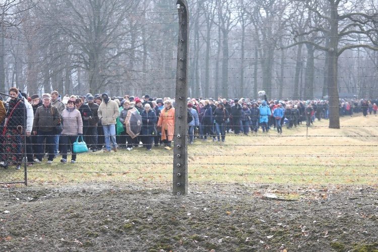
[[(224, 143), (198, 139), (188, 146), (188, 181), (378, 184), (377, 144), (378, 116), (360, 114), (342, 117), (340, 130), (329, 129), (328, 120), (322, 119), (308, 129), (303, 124), (284, 127), (281, 136), (259, 129), (257, 135), (227, 134)], [(60, 158), (28, 168), (29, 183), (172, 181), (173, 150), (163, 147), (88, 152), (79, 154), (76, 164), (61, 164)]]

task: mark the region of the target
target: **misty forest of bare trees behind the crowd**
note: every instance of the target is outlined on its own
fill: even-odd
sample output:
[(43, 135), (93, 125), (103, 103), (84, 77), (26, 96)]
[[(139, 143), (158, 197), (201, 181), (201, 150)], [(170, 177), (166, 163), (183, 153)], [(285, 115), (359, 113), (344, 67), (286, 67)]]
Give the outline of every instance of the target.
[[(0, 90), (174, 96), (173, 1), (6, 0)], [(374, 0), (188, 1), (189, 96), (378, 96)]]

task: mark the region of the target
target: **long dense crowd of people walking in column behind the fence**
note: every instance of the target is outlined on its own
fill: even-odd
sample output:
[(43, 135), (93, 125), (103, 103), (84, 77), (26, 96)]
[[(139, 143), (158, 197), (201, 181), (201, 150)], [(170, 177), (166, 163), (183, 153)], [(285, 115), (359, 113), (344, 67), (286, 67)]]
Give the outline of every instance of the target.
[[(82, 136), (92, 152), (117, 152), (118, 148), (132, 151), (143, 146), (147, 151), (163, 146), (171, 150), (174, 133), (175, 101), (169, 97), (152, 98), (149, 95), (110, 97), (107, 93), (90, 93), (61, 96), (57, 91), (29, 96), (12, 87), (9, 98), (0, 96), (0, 125), (3, 145), (0, 145), (0, 166), (21, 168), (24, 142), (27, 166), (41, 163), (47, 153), (47, 163), (61, 155), (60, 163), (76, 163), (77, 153), (73, 144)], [(139, 134), (132, 136), (126, 130), (127, 117), (137, 110), (142, 118)], [(340, 115), (362, 112), (376, 114), (376, 101), (340, 100)], [(329, 118), (327, 100), (258, 100), (240, 98), (227, 100), (222, 97), (187, 98), (188, 141), (195, 139), (214, 142), (226, 140), (226, 133), (235, 135), (257, 134), (282, 128), (290, 129), (315, 119)], [(58, 125), (62, 125), (57, 132)], [(24, 139), (26, 138), (26, 139)]]

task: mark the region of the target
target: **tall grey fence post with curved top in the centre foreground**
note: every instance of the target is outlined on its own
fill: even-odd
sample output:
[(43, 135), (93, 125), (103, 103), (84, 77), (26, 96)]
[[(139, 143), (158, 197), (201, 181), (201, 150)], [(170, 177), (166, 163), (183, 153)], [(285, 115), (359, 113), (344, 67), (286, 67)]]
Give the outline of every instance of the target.
[(189, 15), (186, 0), (177, 1), (178, 45), (174, 137), (173, 137), (173, 194), (187, 194), (187, 76)]

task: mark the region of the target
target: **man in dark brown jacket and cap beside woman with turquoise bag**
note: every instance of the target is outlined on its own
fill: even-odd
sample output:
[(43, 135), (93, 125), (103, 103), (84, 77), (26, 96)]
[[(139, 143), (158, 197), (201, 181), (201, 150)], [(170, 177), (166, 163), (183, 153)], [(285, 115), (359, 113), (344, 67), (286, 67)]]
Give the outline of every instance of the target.
[(60, 121), (60, 113), (57, 107), (52, 106), (50, 94), (42, 95), (43, 106), (39, 106), (34, 115), (33, 121), (33, 135), (36, 137), (36, 158), (35, 163), (41, 163), (43, 157), (43, 141), (46, 139), (46, 146), (48, 148), (47, 163), (51, 164), (55, 157), (54, 154), (54, 127)]

